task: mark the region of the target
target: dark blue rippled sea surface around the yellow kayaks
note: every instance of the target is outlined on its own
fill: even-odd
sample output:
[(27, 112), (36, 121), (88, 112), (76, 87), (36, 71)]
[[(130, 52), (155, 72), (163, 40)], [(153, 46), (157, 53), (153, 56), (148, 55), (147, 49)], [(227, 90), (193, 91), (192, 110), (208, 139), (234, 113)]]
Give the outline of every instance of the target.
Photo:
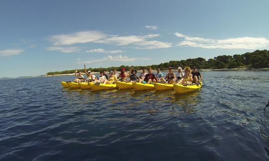
[(0, 160), (269, 160), (269, 72), (202, 74), (187, 95), (0, 80)]

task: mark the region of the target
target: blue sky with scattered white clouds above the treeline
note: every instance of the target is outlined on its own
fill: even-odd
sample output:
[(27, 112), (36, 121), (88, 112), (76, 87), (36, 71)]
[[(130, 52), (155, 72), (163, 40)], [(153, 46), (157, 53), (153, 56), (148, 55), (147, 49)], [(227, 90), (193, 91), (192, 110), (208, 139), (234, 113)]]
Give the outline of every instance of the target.
[(269, 0), (0, 0), (0, 77), (269, 49)]

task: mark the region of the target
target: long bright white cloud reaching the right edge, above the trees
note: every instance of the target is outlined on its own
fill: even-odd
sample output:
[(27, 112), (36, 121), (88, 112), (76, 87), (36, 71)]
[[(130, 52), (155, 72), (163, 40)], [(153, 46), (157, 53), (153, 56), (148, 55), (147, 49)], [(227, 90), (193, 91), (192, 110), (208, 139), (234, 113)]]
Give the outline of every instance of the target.
[(206, 49), (260, 49), (269, 46), (269, 40), (263, 37), (240, 37), (223, 40), (189, 37), (181, 33), (174, 33), (177, 37), (184, 38), (177, 46), (200, 47)]

